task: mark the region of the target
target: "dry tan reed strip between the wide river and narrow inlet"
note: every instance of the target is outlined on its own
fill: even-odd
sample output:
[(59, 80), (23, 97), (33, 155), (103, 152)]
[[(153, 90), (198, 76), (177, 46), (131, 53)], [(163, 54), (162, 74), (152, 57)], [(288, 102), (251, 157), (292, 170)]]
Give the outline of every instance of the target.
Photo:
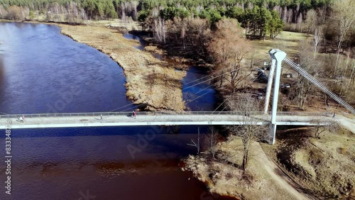
[(175, 70), (148, 52), (136, 48), (136, 40), (128, 40), (117, 30), (101, 26), (70, 26), (53, 23), (61, 33), (109, 55), (124, 69), (126, 96), (134, 104), (147, 104), (147, 109), (182, 111), (180, 80), (186, 72)]

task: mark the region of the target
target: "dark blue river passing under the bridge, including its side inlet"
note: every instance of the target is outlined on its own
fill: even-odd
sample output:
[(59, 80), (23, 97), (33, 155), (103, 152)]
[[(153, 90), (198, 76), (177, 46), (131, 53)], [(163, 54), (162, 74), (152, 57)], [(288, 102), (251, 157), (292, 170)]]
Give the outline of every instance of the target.
[[(134, 109), (121, 67), (57, 26), (0, 23), (0, 41), (1, 113)], [(188, 87), (203, 76), (192, 68), (182, 82)], [(184, 91), (185, 101), (197, 87)], [(212, 89), (188, 106), (213, 110), (213, 98)], [(12, 130), (11, 196), (1, 161), (0, 199), (229, 199), (180, 170), (179, 160), (196, 153), (186, 145), (196, 133), (197, 126)], [(0, 142), (5, 148), (5, 131)], [(4, 150), (0, 155), (4, 160)]]

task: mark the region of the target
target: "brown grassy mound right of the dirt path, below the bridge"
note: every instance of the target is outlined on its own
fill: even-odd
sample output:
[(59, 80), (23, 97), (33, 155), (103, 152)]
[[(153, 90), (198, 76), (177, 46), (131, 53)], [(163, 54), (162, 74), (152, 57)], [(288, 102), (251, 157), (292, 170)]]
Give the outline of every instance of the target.
[[(355, 135), (348, 130), (324, 132), (312, 138), (313, 130), (278, 140), (273, 158), (307, 191), (320, 199), (351, 199), (355, 187)], [(263, 146), (269, 149), (269, 146)], [(277, 156), (275, 156), (275, 152)]]

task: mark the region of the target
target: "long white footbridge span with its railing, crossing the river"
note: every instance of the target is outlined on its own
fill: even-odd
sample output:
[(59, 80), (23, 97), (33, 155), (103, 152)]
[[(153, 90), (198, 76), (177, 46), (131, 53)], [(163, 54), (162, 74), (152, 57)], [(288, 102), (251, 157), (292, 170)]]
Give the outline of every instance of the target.
[[(23, 122), (19, 119), (23, 116)], [(334, 123), (332, 113), (278, 112), (276, 125), (325, 126)], [(43, 113), (0, 115), (0, 129), (70, 128), (99, 126), (185, 126), (185, 125), (269, 125), (270, 113), (240, 113), (232, 111), (163, 111), (109, 113)]]

